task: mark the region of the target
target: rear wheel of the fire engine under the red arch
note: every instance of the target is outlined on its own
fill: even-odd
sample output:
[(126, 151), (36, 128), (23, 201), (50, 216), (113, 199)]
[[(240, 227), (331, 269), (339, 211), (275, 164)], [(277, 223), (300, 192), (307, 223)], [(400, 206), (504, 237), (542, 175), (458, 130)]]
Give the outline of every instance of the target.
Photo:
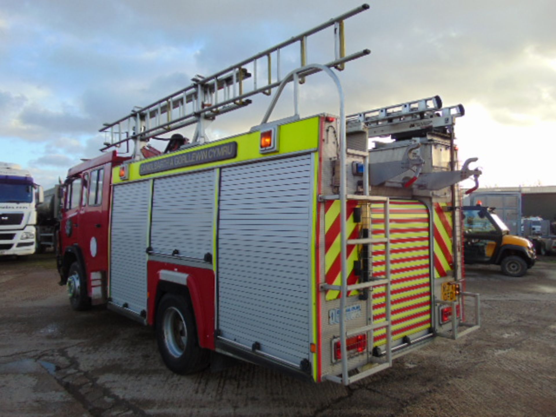
[(199, 346), (196, 327), (185, 297), (162, 297), (156, 310), (156, 341), (164, 364), (176, 374), (191, 374), (209, 364), (209, 351)]

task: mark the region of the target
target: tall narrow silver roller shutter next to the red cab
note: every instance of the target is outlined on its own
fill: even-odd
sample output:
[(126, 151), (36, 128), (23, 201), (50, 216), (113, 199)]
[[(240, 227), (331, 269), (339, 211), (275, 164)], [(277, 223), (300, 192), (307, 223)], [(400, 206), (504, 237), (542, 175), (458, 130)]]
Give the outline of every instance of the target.
[(110, 296), (119, 306), (147, 309), (148, 212), (151, 182), (117, 185), (112, 194)]

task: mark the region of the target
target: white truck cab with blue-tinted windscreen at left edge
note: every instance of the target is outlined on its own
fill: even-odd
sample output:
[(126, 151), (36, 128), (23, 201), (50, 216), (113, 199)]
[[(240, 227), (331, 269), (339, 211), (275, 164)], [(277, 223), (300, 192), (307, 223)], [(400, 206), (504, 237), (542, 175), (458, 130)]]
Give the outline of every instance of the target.
[(0, 162), (0, 256), (34, 254), (36, 205), (42, 200), (42, 187), (29, 171)]

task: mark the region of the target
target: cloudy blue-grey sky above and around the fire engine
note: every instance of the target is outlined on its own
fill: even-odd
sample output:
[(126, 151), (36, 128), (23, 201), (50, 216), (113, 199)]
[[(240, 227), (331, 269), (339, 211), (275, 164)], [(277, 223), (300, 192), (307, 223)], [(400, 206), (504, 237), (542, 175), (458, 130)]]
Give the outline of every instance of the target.
[[(279, 6), (277, 6), (279, 4)], [(127, 115), (316, 24), (359, 6), (344, 0), (0, 0), (0, 161), (45, 187), (98, 155), (104, 122)], [(553, 0), (381, 0), (346, 21), (340, 74), (354, 113), (440, 95), (462, 103), (460, 158), (479, 157), (483, 186), (556, 185)], [(332, 57), (332, 32), (309, 62)], [(282, 74), (297, 49), (284, 53)], [(219, 138), (260, 122), (267, 98), (222, 116)], [(276, 117), (291, 113), (284, 98)], [(322, 75), (302, 86), (302, 116), (337, 113)]]

